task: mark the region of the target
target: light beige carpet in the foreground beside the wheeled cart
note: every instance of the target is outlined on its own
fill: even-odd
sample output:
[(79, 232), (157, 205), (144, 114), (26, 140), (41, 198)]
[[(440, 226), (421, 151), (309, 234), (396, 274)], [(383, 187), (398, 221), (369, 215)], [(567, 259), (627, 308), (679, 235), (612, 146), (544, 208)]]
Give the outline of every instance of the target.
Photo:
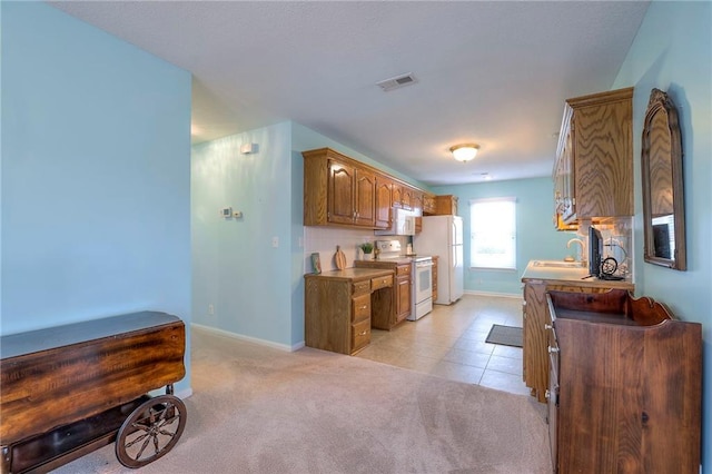
[[(188, 422), (150, 473), (551, 473), (531, 397), (192, 330)], [(113, 445), (56, 471), (130, 473)]]

